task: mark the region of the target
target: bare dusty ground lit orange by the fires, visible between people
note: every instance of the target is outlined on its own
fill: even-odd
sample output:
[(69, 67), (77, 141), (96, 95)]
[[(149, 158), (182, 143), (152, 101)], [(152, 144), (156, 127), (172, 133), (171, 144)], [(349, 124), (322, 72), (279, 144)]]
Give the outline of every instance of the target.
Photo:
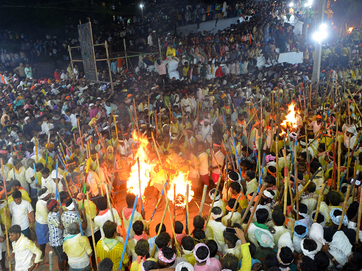
[[(207, 191), (207, 193), (209, 193), (209, 191)], [(122, 211), (122, 209), (126, 206), (126, 191), (121, 191), (117, 194), (117, 202), (116, 205), (118, 207), (118, 209), (120, 211)], [(147, 193), (146, 193), (147, 195)], [(152, 212), (156, 206), (156, 201), (155, 196), (148, 194), (147, 202), (143, 203), (143, 208), (146, 211), (146, 220), (150, 220)], [(196, 205), (196, 203), (200, 206), (200, 202), (201, 202), (201, 198), (194, 198), (195, 200), (191, 201), (189, 203), (189, 218), (191, 220), (191, 224), (190, 224), (190, 230), (191, 232), (193, 231), (193, 225), (192, 225), (192, 220), (194, 218), (195, 215), (198, 214), (199, 212), (199, 207)], [(208, 196), (206, 196), (206, 201), (204, 204), (204, 208), (203, 208), (203, 214), (204, 215), (208, 215), (209, 214), (209, 210), (210, 210), (210, 198)], [(165, 205), (166, 205), (166, 200), (165, 197), (163, 196), (162, 201), (160, 202), (160, 205), (158, 206), (155, 215), (153, 216), (153, 219), (151, 221), (150, 224), (150, 235), (154, 236), (156, 234), (155, 232), (155, 226), (160, 223), (161, 219), (162, 219), (162, 215), (165, 209)], [(140, 206), (140, 204), (139, 204)], [(170, 212), (171, 212), (171, 218), (173, 219), (173, 204), (172, 202), (169, 203), (169, 208), (170, 208)], [(139, 212), (140, 212), (141, 207), (139, 207)], [(121, 216), (122, 219), (122, 216)], [(176, 208), (176, 220), (181, 221), (182, 224), (184, 224), (184, 230), (186, 227), (186, 209), (182, 210), (180, 207)], [(167, 232), (170, 233), (170, 235), (172, 235), (172, 221), (170, 220), (170, 215), (168, 214), (168, 212), (166, 213), (164, 222), (163, 222), (166, 226)], [(122, 223), (122, 229), (123, 229), (123, 238), (126, 238), (126, 231), (125, 228), (123, 227), (123, 223)], [(46, 258), (45, 258), (45, 263), (43, 265), (40, 265), (38, 267), (37, 270), (49, 270), (49, 251), (52, 250), (50, 248), (49, 245), (47, 245), (46, 247)], [(53, 254), (53, 270), (59, 270), (58, 268), (58, 259), (56, 258), (56, 255)], [(8, 267), (8, 263), (6, 263), (6, 266)], [(12, 270), (15, 270), (15, 263), (12, 261)]]

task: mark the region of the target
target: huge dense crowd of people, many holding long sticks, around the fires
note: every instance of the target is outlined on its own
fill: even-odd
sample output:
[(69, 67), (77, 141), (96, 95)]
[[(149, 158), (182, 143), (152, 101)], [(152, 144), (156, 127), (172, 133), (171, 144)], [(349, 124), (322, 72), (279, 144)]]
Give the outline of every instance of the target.
[[(29, 55), (2, 51), (2, 270), (48, 263), (47, 245), (61, 271), (361, 270), (358, 30), (323, 44), (312, 85), (313, 46), (283, 3), (152, 8), (146, 23), (117, 18), (127, 47), (152, 54), (128, 69), (121, 55), (110, 70), (100, 63), (99, 81), (113, 83), (85, 79), (76, 63), (39, 76)], [(205, 10), (216, 24), (244, 21), (175, 35), (175, 18), (200, 23)], [(112, 42), (117, 31), (103, 35)], [(47, 40), (49, 53), (56, 37)], [(279, 63), (289, 51), (303, 63)], [(168, 180), (182, 173), (197, 205), (206, 196), (189, 225), (176, 216), (150, 227), (139, 198), (122, 198), (143, 139), (143, 204), (163, 210)]]

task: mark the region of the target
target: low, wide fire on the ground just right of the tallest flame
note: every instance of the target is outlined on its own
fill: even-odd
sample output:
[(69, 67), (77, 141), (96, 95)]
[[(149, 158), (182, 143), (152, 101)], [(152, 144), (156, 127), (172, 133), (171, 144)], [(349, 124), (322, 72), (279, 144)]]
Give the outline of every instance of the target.
[[(176, 203), (173, 202), (173, 184), (176, 184)], [(167, 197), (176, 206), (180, 206), (182, 208), (186, 206), (185, 195), (187, 184), (189, 184), (188, 202), (190, 202), (194, 196), (194, 192), (191, 190), (191, 181), (188, 180), (188, 174), (180, 171), (172, 178), (170, 182), (170, 189), (167, 191)]]

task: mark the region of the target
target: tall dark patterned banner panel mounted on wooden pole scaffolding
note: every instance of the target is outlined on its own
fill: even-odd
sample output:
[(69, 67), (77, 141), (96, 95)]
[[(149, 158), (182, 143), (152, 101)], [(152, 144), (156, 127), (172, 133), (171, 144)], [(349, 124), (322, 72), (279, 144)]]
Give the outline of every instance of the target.
[(88, 80), (98, 81), (96, 57), (94, 56), (93, 49), (92, 27), (90, 22), (78, 25), (78, 33), (85, 78)]

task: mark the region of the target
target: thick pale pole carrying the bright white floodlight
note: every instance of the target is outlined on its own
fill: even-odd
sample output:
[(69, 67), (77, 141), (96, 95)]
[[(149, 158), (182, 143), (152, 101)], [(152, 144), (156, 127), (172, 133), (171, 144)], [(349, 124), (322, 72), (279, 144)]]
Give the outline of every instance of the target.
[[(321, 25), (324, 22), (324, 7), (325, 7), (325, 0), (319, 0), (316, 29), (320, 29)], [(319, 81), (321, 57), (322, 57), (322, 40), (317, 40), (314, 51), (312, 85), (314, 85), (314, 83), (317, 83)]]

